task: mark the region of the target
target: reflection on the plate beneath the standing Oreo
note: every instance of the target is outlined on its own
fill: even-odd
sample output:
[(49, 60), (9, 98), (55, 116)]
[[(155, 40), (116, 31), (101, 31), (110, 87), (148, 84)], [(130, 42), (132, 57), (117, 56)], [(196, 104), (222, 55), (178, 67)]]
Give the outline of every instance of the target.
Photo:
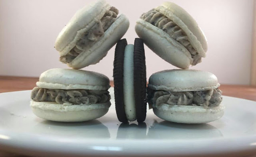
[(129, 124), (122, 123), (118, 127), (116, 139), (145, 139), (147, 138), (147, 125), (146, 123)]

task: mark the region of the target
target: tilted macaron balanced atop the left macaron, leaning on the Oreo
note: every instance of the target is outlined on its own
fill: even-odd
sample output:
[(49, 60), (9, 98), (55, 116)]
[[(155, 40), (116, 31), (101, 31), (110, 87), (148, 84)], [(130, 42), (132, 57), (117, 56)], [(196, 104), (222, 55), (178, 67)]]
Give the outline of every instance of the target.
[(129, 27), (128, 18), (118, 12), (105, 0), (78, 10), (55, 41), (60, 61), (73, 69), (98, 63)]

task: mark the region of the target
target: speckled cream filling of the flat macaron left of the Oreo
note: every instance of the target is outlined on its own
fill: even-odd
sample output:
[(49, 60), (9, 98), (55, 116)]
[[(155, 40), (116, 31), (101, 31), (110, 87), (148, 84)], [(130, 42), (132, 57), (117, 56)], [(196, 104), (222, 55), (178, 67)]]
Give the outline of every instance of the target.
[(108, 90), (61, 90), (34, 87), (31, 99), (36, 102), (56, 102), (57, 104), (101, 104), (110, 100)]

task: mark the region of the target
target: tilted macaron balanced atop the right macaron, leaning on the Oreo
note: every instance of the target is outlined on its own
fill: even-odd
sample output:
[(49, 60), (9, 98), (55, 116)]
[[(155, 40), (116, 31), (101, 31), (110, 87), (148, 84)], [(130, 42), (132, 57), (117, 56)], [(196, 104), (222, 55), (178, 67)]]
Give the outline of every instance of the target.
[(208, 47), (196, 21), (172, 2), (142, 14), (135, 31), (154, 53), (182, 69), (200, 63)]

